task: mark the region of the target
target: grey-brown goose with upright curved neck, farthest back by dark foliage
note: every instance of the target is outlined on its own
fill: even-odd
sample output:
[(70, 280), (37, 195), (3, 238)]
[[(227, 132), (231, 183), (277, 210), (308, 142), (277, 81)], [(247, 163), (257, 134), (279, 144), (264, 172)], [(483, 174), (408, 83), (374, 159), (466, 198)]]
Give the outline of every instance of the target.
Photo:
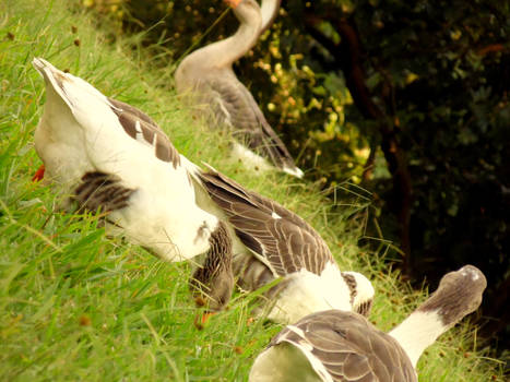
[(205, 116), (211, 124), (228, 127), (246, 141), (248, 148), (234, 143), (235, 155), (244, 158), (244, 162), (264, 170), (271, 168), (269, 159), (274, 167), (301, 178), (304, 172), (296, 167), (285, 144), (232, 68), (254, 46), (261, 28), (271, 25), (280, 1), (264, 1), (263, 20), (254, 0), (224, 1), (230, 4), (240, 22), (238, 31), (224, 40), (193, 51), (180, 62), (175, 72), (177, 93), (195, 106), (206, 105), (209, 111), (205, 111)]

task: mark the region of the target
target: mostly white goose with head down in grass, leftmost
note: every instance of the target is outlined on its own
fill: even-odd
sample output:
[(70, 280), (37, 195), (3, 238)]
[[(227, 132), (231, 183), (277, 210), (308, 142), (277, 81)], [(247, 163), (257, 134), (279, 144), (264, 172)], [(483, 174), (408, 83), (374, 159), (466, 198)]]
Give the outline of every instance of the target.
[(86, 210), (108, 212), (110, 234), (122, 234), (167, 262), (205, 253), (197, 283), (213, 308), (229, 298), (232, 242), (224, 223), (195, 204), (192, 164), (144, 112), (108, 98), (86, 81), (41, 58), (46, 83), (35, 150), (48, 181)]

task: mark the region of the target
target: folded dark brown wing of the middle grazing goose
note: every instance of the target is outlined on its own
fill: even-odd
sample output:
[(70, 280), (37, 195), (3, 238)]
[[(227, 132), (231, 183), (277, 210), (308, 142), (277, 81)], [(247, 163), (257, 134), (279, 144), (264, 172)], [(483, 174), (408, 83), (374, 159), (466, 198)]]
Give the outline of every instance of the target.
[(299, 216), (274, 201), (248, 191), (211, 169), (199, 175), (213, 201), (227, 214), (236, 235), (275, 276), (306, 268), (321, 274), (331, 252)]

